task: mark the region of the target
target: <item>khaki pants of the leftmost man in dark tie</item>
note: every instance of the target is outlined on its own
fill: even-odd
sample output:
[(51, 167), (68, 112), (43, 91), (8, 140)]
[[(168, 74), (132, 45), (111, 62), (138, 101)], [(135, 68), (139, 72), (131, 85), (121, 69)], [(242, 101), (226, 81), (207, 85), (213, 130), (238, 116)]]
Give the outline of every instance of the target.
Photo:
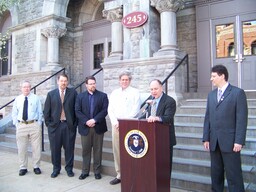
[(32, 147), (32, 163), (34, 168), (39, 168), (42, 150), (42, 129), (37, 123), (18, 123), (16, 126), (16, 140), (20, 169), (28, 167), (28, 145)]

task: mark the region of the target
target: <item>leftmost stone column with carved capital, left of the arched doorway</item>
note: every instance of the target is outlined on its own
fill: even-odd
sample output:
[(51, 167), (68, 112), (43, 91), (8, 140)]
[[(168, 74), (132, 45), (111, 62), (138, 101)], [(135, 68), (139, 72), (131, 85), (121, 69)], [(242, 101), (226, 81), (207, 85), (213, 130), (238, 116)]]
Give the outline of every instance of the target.
[(41, 33), (48, 38), (47, 68), (60, 68), (59, 38), (66, 34), (67, 29), (57, 25), (42, 29)]

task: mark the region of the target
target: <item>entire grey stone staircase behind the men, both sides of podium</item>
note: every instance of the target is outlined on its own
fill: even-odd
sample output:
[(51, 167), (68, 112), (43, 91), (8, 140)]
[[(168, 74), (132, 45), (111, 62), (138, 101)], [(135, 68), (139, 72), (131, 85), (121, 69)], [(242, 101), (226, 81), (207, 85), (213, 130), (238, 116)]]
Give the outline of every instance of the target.
[[(249, 120), (246, 146), (241, 153), (247, 192), (256, 191), (256, 97), (254, 94), (247, 94)], [(190, 191), (208, 192), (211, 191), (210, 157), (201, 142), (206, 109), (206, 99), (204, 98), (206, 96), (190, 94), (186, 97), (189, 99), (184, 99), (181, 102), (175, 115), (177, 145), (174, 147), (171, 185)], [(42, 152), (42, 160), (50, 162), (50, 146), (46, 128), (44, 128), (44, 138), (45, 151)], [(80, 135), (77, 134), (74, 166), (78, 169), (82, 167), (81, 148)], [(14, 127), (9, 127), (4, 134), (0, 134), (0, 150), (17, 153)], [(102, 164), (103, 174), (114, 177), (111, 131), (105, 133)]]

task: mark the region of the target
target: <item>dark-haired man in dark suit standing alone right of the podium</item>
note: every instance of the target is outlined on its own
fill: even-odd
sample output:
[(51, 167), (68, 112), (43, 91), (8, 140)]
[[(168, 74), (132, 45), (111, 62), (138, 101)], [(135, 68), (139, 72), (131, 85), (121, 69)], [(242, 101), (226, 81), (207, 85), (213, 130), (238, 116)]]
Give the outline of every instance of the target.
[(210, 150), (212, 191), (223, 192), (224, 172), (228, 189), (243, 192), (240, 151), (245, 144), (248, 108), (245, 92), (228, 83), (228, 71), (215, 65), (211, 81), (217, 88), (207, 99), (204, 120), (204, 148)]

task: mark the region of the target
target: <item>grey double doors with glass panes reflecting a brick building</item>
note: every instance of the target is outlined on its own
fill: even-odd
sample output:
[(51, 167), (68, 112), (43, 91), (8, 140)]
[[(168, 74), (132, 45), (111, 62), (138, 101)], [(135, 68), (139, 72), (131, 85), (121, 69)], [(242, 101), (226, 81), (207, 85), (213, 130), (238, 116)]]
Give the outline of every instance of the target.
[(256, 13), (212, 20), (213, 64), (229, 70), (229, 82), (256, 91)]

